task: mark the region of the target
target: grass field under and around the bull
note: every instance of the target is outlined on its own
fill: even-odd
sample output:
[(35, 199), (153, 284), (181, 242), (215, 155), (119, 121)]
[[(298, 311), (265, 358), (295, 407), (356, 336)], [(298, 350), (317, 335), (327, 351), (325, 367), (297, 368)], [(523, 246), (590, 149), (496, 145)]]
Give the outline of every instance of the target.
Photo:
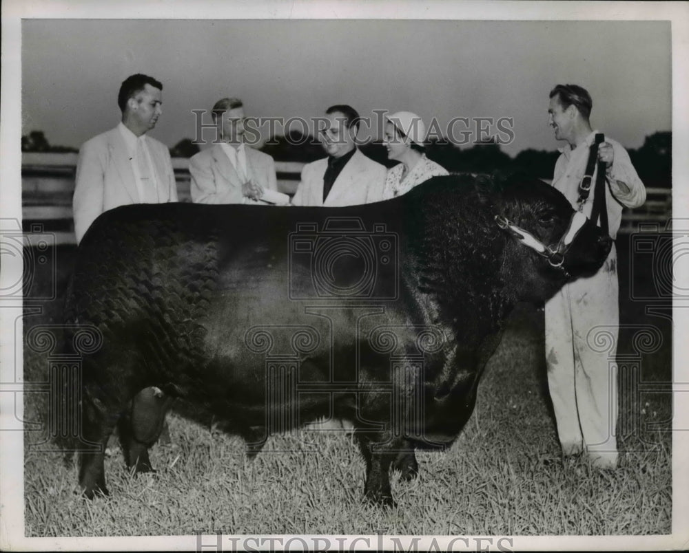
[[(641, 382), (671, 379), (671, 323), (629, 301), (629, 243), (621, 237), (619, 355), (633, 353), (638, 325), (657, 327), (662, 344), (637, 356)], [(55, 250), (56, 288), (62, 295), (72, 248)], [(652, 266), (635, 279), (652, 292)], [(34, 296), (50, 280), (36, 274)], [(638, 291), (638, 287), (636, 289)], [(652, 293), (648, 295), (652, 296)], [(42, 304), (34, 325), (59, 323), (60, 301)], [(627, 325), (627, 326), (625, 326)], [(632, 326), (637, 325), (637, 326)], [(120, 451), (107, 457), (112, 496), (78, 497), (76, 468), (63, 455), (34, 452), (45, 437), (25, 432), (27, 536), (136, 536), (193, 534), (668, 534), (672, 511), (670, 393), (621, 387), (621, 462), (611, 472), (581, 460), (559, 462), (559, 444), (545, 384), (542, 312), (520, 306), (480, 386), (471, 420), (449, 451), (418, 453), (420, 478), (393, 477), (398, 506), (362, 503), (364, 462), (345, 433), (299, 431), (271, 437), (249, 462), (243, 442), (214, 425), (169, 416), (171, 446), (155, 446), (155, 475), (132, 477)], [(620, 362), (620, 365), (622, 363)], [(621, 369), (622, 371), (622, 369)], [(25, 347), (28, 382), (46, 380), (45, 354)], [(638, 379), (637, 379), (638, 380)], [(25, 420), (45, 420), (45, 394), (25, 397)], [(301, 440), (317, 451), (307, 453)], [(271, 453), (286, 450), (289, 453)]]

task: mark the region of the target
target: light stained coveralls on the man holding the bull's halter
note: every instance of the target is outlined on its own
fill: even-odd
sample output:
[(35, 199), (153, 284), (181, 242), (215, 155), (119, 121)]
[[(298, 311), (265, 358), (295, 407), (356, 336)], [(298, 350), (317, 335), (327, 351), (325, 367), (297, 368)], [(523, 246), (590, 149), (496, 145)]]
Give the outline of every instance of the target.
[[(593, 131), (572, 149), (568, 144), (555, 164), (553, 186), (579, 209), (579, 183), (586, 172)], [(610, 237), (617, 236), (623, 206), (635, 208), (646, 200), (646, 188), (628, 153), (613, 146), (611, 173), (606, 179), (606, 207)], [(596, 168), (597, 171), (597, 168)], [(582, 212), (591, 215), (595, 195), (593, 175)], [(624, 182), (628, 191), (619, 186)], [(593, 276), (568, 283), (545, 306), (546, 365), (557, 433), (563, 455), (586, 451), (594, 466), (617, 465), (617, 336), (619, 326), (617, 252)]]

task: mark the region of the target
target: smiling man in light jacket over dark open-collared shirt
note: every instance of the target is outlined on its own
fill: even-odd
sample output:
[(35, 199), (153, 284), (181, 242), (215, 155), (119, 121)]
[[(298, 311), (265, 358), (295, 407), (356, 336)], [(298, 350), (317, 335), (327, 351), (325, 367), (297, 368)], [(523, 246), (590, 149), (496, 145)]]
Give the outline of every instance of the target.
[(328, 157), (302, 169), (295, 206), (355, 206), (382, 199), (387, 170), (356, 147), (359, 114), (348, 105), (329, 107), (323, 148)]

